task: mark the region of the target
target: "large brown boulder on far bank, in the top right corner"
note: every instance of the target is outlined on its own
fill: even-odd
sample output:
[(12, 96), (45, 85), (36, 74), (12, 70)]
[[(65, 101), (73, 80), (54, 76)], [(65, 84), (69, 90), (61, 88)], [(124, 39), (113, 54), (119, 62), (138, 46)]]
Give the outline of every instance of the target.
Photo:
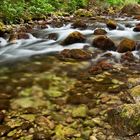
[(121, 13), (126, 13), (130, 16), (132, 15), (140, 15), (140, 5), (139, 4), (128, 4), (125, 5), (122, 10)]

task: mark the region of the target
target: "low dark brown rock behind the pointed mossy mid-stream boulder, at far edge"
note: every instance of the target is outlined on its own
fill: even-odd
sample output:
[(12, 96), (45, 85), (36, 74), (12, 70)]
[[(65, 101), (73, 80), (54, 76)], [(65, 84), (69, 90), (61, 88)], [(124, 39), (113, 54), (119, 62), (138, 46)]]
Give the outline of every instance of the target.
[(80, 28), (80, 29), (86, 29), (87, 28), (87, 24), (85, 22), (83, 22), (82, 20), (76, 20), (73, 24), (72, 24), (73, 28)]

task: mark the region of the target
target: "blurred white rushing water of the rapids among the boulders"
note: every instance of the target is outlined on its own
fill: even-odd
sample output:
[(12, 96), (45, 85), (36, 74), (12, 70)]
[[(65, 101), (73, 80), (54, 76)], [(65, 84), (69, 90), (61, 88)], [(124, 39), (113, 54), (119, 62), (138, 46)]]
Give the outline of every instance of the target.
[[(109, 30), (106, 28), (104, 23), (97, 23), (97, 25), (99, 28), (104, 28), (107, 31), (107, 36), (111, 38), (116, 44), (119, 44), (123, 38), (130, 38), (135, 41), (140, 41), (140, 32), (133, 31), (133, 25), (136, 23), (140, 23), (140, 21), (120, 21), (116, 30)], [(130, 24), (132, 27), (125, 27), (125, 24)], [(8, 43), (7, 40), (0, 38), (0, 63), (24, 59), (38, 54), (59, 52), (66, 48), (81, 49), (85, 45), (91, 46), (91, 40), (95, 37), (93, 35), (94, 30), (95, 29), (72, 29), (71, 24), (68, 24), (60, 28), (52, 28), (51, 26), (48, 26), (48, 28), (43, 30), (36, 29), (35, 34), (37, 34), (38, 37), (34, 37), (32, 34), (28, 34), (30, 37), (29, 39), (16, 40), (16, 43)], [(87, 37), (87, 42), (62, 46), (61, 41), (63, 41), (70, 33), (74, 31), (78, 31), (84, 34)], [(57, 34), (56, 40), (47, 39), (48, 36), (52, 33)], [(121, 57), (121, 54), (118, 52), (107, 51), (105, 53), (108, 52), (112, 53), (116, 59), (120, 59)], [(98, 55), (96, 59), (100, 58), (105, 53)], [(140, 53), (138, 51), (134, 51), (133, 54), (136, 58), (140, 58)]]

